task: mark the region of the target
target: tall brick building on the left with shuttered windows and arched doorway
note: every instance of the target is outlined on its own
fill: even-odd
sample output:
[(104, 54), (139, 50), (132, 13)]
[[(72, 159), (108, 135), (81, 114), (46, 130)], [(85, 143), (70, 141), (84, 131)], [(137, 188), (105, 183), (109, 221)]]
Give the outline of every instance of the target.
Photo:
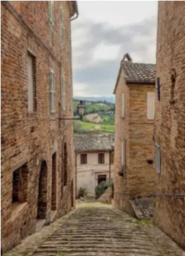
[(76, 1), (1, 1), (1, 247), (74, 206)]

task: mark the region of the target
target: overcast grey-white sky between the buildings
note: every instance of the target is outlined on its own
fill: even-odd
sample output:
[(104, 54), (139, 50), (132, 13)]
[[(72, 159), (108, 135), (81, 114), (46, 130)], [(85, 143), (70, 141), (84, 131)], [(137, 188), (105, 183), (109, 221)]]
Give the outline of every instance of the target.
[(72, 21), (74, 96), (112, 96), (124, 53), (155, 63), (157, 1), (78, 1)]

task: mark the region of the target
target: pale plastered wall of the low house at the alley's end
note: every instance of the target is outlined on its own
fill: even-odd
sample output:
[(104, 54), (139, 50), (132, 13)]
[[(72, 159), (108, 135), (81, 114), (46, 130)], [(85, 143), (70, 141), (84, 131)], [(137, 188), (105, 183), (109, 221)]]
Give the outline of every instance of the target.
[[(98, 164), (98, 153), (104, 153), (104, 164)], [(81, 154), (77, 154), (77, 195), (79, 188), (86, 188), (88, 196), (94, 197), (98, 184), (98, 175), (106, 174), (109, 179), (109, 152), (84, 152), (87, 164), (81, 164)], [(110, 166), (110, 178), (113, 178), (113, 164)]]

